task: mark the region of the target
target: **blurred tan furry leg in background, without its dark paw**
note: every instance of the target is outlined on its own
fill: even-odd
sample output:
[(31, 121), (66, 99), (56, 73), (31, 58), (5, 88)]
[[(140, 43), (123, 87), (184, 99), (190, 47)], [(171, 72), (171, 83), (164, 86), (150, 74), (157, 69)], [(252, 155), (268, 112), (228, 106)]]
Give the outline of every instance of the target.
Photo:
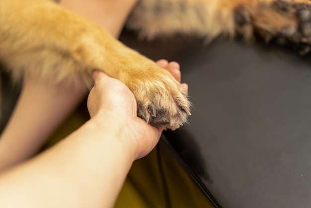
[(233, 4), (241, 0), (141, 0), (126, 26), (143, 38), (176, 34), (209, 40), (234, 34)]

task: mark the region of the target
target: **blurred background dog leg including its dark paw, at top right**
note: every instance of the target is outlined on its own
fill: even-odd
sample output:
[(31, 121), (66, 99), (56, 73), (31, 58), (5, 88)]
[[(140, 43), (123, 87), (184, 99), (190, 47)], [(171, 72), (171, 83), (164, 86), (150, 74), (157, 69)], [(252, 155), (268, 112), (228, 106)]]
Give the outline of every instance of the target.
[(226, 34), (249, 42), (259, 35), (311, 51), (310, 0), (141, 0), (127, 26), (147, 39)]

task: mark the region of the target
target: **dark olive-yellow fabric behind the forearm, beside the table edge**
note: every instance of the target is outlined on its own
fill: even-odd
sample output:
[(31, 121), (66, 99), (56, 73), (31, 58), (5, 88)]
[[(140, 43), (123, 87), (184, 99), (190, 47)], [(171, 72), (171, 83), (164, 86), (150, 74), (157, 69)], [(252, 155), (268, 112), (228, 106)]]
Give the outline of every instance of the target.
[[(54, 133), (46, 148), (78, 129), (88, 118), (76, 112)], [(162, 168), (161, 168), (162, 167)], [(162, 144), (134, 162), (115, 208), (213, 208), (202, 191)]]

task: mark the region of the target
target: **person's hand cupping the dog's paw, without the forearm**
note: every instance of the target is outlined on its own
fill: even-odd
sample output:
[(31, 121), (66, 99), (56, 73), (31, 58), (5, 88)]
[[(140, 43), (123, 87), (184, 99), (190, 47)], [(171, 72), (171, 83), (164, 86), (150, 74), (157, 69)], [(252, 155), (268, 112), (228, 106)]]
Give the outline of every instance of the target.
[[(180, 67), (176, 62), (156, 62), (168, 70), (180, 82)], [(137, 117), (137, 103), (132, 92), (120, 81), (103, 72), (93, 72), (95, 85), (91, 90), (87, 107), (91, 118), (96, 117), (111, 127), (118, 126), (127, 137), (128, 147), (133, 148), (135, 159), (146, 156), (159, 140), (163, 128), (154, 127)], [(182, 84), (185, 92), (188, 86)]]

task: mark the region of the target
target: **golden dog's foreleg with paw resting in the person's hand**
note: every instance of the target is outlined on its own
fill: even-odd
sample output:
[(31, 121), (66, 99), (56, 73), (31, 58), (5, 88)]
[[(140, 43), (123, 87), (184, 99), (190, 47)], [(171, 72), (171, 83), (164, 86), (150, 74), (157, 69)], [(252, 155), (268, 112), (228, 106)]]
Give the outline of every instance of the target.
[(82, 78), (91, 86), (91, 71), (100, 69), (129, 87), (146, 121), (175, 129), (190, 114), (185, 93), (166, 70), (54, 2), (2, 0), (0, 25), (0, 59), (15, 79)]

